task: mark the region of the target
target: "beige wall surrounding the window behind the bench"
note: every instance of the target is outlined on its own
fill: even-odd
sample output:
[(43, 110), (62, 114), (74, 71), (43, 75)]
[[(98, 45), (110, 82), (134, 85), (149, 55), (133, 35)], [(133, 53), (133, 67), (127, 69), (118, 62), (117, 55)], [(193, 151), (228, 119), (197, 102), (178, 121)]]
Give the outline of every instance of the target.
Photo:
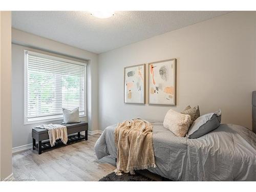
[[(12, 130), (13, 147), (32, 143), (31, 129), (41, 124), (24, 125), (24, 50), (51, 52), (77, 59), (88, 60), (87, 119), (89, 131), (98, 130), (98, 55), (30, 33), (12, 29)], [(18, 45), (17, 45), (18, 44)], [(51, 121), (49, 123), (60, 123)], [(46, 122), (47, 123), (47, 122)], [(26, 146), (25, 146), (26, 148)]]

